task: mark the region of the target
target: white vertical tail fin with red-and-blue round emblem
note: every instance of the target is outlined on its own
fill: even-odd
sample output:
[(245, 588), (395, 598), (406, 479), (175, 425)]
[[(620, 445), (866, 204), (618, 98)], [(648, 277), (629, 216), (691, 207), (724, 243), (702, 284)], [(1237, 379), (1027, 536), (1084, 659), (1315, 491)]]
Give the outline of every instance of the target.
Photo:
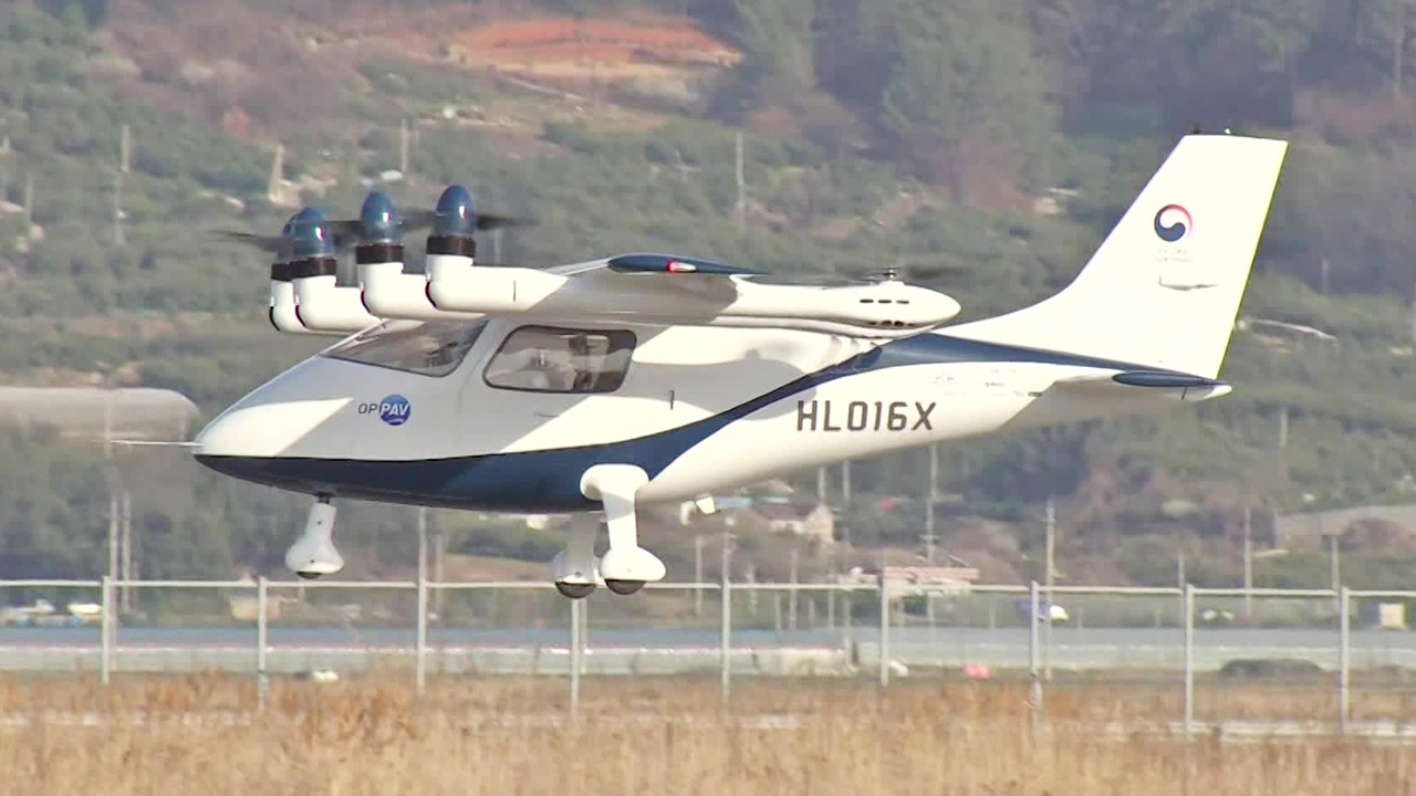
[(946, 334), (1218, 377), (1287, 147), (1185, 136), (1062, 292)]

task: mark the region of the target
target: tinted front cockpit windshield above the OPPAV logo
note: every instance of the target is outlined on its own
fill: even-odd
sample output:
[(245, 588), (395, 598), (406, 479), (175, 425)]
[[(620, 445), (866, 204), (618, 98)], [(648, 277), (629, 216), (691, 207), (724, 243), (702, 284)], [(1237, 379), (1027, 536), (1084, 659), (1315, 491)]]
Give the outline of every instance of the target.
[(486, 327), (486, 320), (385, 320), (324, 356), (422, 375), (447, 375), (457, 370)]

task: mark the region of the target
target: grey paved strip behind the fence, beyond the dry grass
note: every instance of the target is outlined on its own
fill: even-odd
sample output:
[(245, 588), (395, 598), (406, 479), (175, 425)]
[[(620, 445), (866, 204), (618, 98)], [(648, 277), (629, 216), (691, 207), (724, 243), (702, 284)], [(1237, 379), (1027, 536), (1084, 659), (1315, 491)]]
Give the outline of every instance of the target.
[[(411, 659), (412, 627), (282, 627), (268, 633), (270, 671), (329, 667), (357, 671), (375, 660)], [(715, 630), (589, 627), (586, 671), (675, 674), (719, 666)], [(851, 673), (879, 661), (879, 630), (733, 630), (732, 669), (745, 674)], [(432, 671), (562, 673), (569, 666), (569, 632), (545, 629), (429, 627)], [(1027, 627), (892, 627), (891, 661), (901, 667), (1029, 664)], [(0, 629), (0, 669), (11, 671), (92, 670), (99, 664), (98, 627)], [(253, 627), (122, 627), (113, 666), (119, 671), (184, 671), (218, 667), (253, 671)], [(1184, 667), (1178, 629), (1056, 627), (1042, 659), (1055, 670), (1148, 670)], [(1195, 667), (1214, 671), (1239, 659), (1289, 659), (1327, 670), (1338, 667), (1335, 629), (1199, 629)], [(1416, 669), (1416, 633), (1354, 630), (1354, 670)]]

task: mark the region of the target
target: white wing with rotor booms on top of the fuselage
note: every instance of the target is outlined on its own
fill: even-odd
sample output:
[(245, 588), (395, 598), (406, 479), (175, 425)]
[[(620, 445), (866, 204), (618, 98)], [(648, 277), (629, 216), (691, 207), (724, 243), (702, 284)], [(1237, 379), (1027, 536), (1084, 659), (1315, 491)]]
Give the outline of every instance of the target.
[(361, 288), (334, 292), (295, 285), (293, 303), (310, 331), (350, 333), (379, 319), (520, 317), (538, 323), (800, 329), (872, 340), (935, 329), (960, 310), (943, 293), (895, 279), (823, 286), (810, 279), (759, 282), (759, 276), (763, 272), (750, 268), (667, 254), (627, 254), (552, 268), (436, 258), (429, 261), (426, 276), (361, 272)]

